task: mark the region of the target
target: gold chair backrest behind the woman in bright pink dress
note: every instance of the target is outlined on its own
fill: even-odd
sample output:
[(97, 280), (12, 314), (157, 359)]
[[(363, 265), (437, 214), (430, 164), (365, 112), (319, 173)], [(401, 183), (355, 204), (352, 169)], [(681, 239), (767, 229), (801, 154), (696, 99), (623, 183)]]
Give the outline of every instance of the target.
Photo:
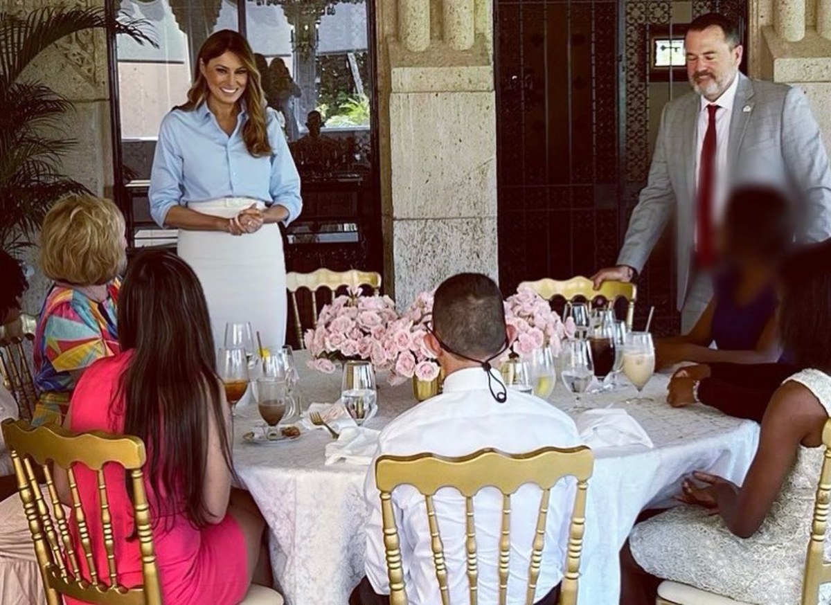
[[(155, 563), (153, 534), (150, 529), (150, 507), (145, 494), (142, 467), (145, 465), (145, 445), (137, 437), (108, 435), (101, 431), (74, 435), (57, 425), (44, 425), (32, 429), (26, 421), (7, 420), (2, 422), (2, 434), (12, 455), (17, 489), (26, 512), (32, 540), (35, 543), (37, 563), (41, 568), (43, 586), (49, 605), (59, 605), (61, 594), (88, 603), (106, 605), (161, 605), (159, 573)], [(53, 480), (52, 465), (66, 470), (69, 484), (71, 510), (64, 511)], [(113, 524), (107, 487), (104, 480), (104, 465), (116, 463), (130, 475), (133, 488), (133, 509), (136, 535), (139, 540), (141, 566), (144, 583), (138, 588), (127, 589), (116, 579), (116, 551), (113, 539)], [(35, 464), (43, 470), (46, 478), (50, 506), (37, 482)], [(104, 552), (107, 569), (97, 569), (92, 550), (87, 519), (91, 511), (81, 506), (81, 496), (76, 483), (73, 465), (80, 464), (97, 473), (98, 499)], [(123, 489), (123, 485), (120, 486)], [(80, 536), (81, 553), (76, 547), (66, 515), (71, 514)], [(52, 519), (54, 515), (54, 519)], [(81, 575), (79, 558), (86, 559), (89, 578)], [(104, 577), (108, 583), (104, 583)]]

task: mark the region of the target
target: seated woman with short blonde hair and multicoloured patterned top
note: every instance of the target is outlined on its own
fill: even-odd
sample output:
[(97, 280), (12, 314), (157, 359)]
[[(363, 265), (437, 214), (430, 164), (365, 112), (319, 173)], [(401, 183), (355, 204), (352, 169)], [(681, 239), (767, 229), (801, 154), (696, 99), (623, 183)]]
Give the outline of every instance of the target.
[(120, 352), (119, 274), (126, 265), (124, 216), (109, 199), (73, 195), (43, 219), (41, 268), (54, 281), (35, 334), (34, 425), (61, 422), (81, 374)]

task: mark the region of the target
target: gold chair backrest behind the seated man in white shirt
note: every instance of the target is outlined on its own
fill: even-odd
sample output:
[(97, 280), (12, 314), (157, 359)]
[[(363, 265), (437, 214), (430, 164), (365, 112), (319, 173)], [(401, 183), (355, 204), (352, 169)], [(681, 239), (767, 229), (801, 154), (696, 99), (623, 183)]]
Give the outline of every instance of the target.
[(583, 549), (583, 531), (586, 524), (586, 491), (592, 476), (592, 450), (580, 446), (567, 450), (545, 447), (528, 454), (510, 455), (498, 450), (479, 450), (460, 458), (445, 458), (431, 454), (412, 456), (383, 455), (376, 461), (375, 475), (381, 492), (381, 516), (384, 528), (387, 573), (390, 577), (391, 605), (406, 605), (404, 568), (401, 562), (396, 515), (393, 511), (392, 490), (410, 484), (425, 497), (427, 521), (430, 527), (435, 577), (438, 580), (441, 602), (450, 603), (445, 567), (444, 544), (435, 518), (434, 494), (441, 488), (457, 489), (465, 496), (465, 551), (470, 603), (477, 602), (479, 578), (476, 558), (476, 536), (473, 499), (484, 487), (495, 487), (503, 494), (502, 524), (499, 539), (499, 603), (504, 605), (508, 593), (509, 553), (511, 547), (511, 494), (523, 484), (536, 484), (543, 490), (540, 500), (536, 534), (530, 557), (528, 587), (525, 603), (534, 603), (540, 563), (543, 558), (546, 519), (551, 489), (565, 476), (577, 479), (577, 492), (571, 516), (568, 554), (563, 583), (560, 585), (561, 605), (577, 603), (580, 553)]

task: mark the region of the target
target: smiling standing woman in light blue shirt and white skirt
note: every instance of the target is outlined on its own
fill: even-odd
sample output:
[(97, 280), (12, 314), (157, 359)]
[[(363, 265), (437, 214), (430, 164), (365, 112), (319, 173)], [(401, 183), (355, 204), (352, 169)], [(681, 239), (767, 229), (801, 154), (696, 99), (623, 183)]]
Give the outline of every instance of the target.
[(199, 49), (188, 101), (161, 123), (150, 214), (179, 229), (179, 256), (199, 276), (218, 346), (226, 322), (251, 322), (263, 343), (283, 345), (278, 223), (301, 209), (300, 177), (251, 47), (238, 32), (216, 32)]

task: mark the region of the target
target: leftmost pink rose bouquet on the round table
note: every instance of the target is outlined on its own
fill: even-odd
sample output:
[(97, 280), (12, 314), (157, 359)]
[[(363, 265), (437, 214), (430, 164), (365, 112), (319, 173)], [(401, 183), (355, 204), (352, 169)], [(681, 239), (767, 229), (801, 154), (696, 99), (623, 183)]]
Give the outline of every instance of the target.
[(312, 369), (331, 374), (335, 362), (369, 360), (380, 370), (386, 364), (382, 354), (386, 328), (396, 321), (396, 304), (388, 296), (361, 296), (361, 288), (350, 288), (325, 305), (317, 327), (303, 336), (312, 354)]

